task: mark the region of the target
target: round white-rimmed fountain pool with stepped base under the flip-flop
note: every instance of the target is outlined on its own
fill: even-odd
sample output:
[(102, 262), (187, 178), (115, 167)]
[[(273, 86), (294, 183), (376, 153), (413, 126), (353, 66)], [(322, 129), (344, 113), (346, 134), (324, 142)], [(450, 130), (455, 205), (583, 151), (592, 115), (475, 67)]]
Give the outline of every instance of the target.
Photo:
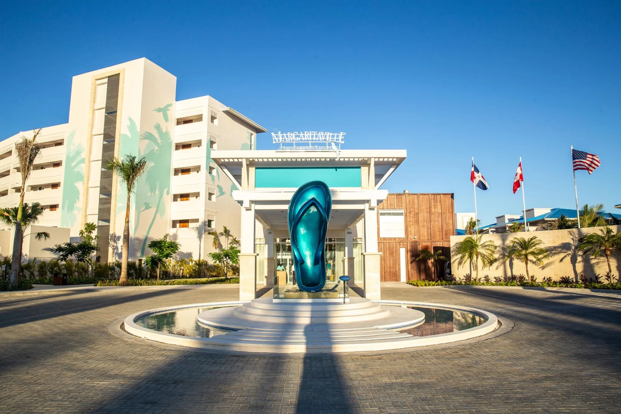
[[(390, 300), (375, 300), (372, 304), (365, 300), (354, 304), (357, 308), (374, 307), (377, 310), (373, 312), (381, 313), (367, 320), (356, 317), (357, 311), (352, 310), (351, 305), (349, 309), (330, 305), (324, 309), (332, 322), (314, 322), (310, 317), (304, 318), (304, 312), (310, 312), (307, 304), (298, 312), (301, 318), (292, 319), (290, 315), (295, 304), (268, 305), (265, 301), (258, 304), (274, 320), (265, 322), (261, 315), (255, 320), (240, 319), (239, 316), (243, 318), (244, 315), (242, 311), (255, 301), (146, 310), (125, 318), (125, 330), (140, 338), (192, 348), (255, 353), (340, 353), (463, 341), (491, 333), (499, 324), (495, 315), (475, 308)], [(279, 321), (279, 312), (289, 316)], [(317, 311), (312, 312), (315, 315)], [(343, 320), (343, 315), (348, 319)]]

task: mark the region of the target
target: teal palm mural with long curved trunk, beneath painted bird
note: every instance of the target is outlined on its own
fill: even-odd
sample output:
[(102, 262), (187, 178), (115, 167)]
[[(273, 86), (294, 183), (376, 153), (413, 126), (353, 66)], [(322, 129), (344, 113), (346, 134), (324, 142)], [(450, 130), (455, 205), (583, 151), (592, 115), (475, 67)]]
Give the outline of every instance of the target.
[[(164, 115), (162, 113), (162, 115)], [(160, 124), (153, 125), (155, 134), (143, 132), (140, 134), (141, 141), (147, 141), (144, 156), (149, 164), (147, 174), (138, 182), (137, 205), (153, 207), (151, 221), (148, 225), (145, 239), (142, 243), (140, 256), (144, 256), (147, 248), (148, 236), (153, 228), (157, 217), (163, 217), (166, 212), (166, 203), (162, 203), (164, 196), (170, 194), (170, 168), (172, 162), (173, 141), (168, 128), (164, 129)]]

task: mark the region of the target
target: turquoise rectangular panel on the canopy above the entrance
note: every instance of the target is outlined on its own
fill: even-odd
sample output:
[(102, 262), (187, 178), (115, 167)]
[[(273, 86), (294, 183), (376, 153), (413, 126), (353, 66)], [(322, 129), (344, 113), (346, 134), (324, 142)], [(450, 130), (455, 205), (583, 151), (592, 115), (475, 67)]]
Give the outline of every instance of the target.
[(256, 167), (255, 188), (297, 188), (309, 181), (328, 187), (362, 186), (360, 167)]

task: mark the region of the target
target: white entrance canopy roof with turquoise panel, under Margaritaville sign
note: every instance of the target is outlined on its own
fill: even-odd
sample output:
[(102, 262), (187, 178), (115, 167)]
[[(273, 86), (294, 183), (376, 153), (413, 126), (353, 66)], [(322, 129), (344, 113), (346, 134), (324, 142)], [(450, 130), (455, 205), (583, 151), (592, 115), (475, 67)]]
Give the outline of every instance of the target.
[(406, 158), (405, 150), (212, 151), (212, 159), (238, 190), (233, 199), (253, 209), (264, 227), (287, 228), (297, 187), (324, 181), (332, 192), (331, 229), (350, 228), (388, 195), (379, 187)]

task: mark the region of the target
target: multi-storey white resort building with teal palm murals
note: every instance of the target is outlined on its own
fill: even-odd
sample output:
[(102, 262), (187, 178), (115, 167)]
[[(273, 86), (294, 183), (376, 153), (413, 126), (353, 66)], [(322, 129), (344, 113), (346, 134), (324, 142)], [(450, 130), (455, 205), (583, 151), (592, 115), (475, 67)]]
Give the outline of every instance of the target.
[[(25, 202), (39, 202), (39, 225), (48, 241), (26, 236), (26, 258), (52, 258), (53, 244), (76, 240), (84, 223), (97, 224), (99, 260), (120, 259), (126, 192), (103, 168), (114, 156), (145, 157), (130, 207), (130, 259), (148, 254), (147, 243), (170, 233), (182, 257), (212, 251), (207, 232), (227, 226), (240, 235), (240, 207), (232, 181), (212, 160), (214, 150), (252, 150), (260, 125), (211, 96), (176, 101), (176, 77), (142, 58), (73, 77), (69, 120), (45, 127), (43, 146), (27, 181)], [(27, 128), (26, 128), (27, 129)], [(0, 142), (0, 207), (19, 202), (15, 143)], [(0, 231), (0, 254), (12, 252), (10, 229)], [(35, 226), (32, 230), (39, 230)]]

